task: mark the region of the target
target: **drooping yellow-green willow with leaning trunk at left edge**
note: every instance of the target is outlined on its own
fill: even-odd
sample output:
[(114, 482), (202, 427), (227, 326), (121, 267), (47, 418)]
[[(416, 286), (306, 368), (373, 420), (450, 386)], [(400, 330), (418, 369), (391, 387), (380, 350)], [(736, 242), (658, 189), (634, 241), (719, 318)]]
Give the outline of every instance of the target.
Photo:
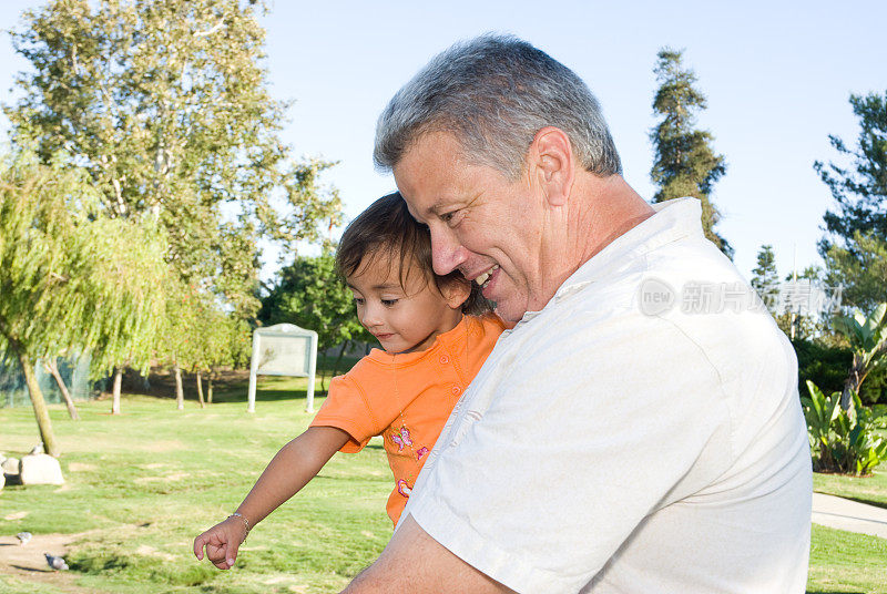
[(78, 170), (28, 153), (0, 164), (0, 348), (18, 360), (44, 449), (59, 447), (34, 363), (90, 351), (93, 372), (150, 335), (162, 309), (165, 245), (151, 222), (110, 219)]

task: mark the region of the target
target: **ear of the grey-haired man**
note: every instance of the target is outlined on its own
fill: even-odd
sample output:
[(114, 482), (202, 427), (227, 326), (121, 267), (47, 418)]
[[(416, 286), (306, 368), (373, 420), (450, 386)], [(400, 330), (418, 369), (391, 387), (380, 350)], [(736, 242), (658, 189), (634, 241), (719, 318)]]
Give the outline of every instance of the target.
[(536, 133), (530, 145), (530, 164), (534, 165), (537, 183), (551, 206), (563, 206), (570, 195), (575, 175), (575, 156), (567, 133), (547, 126)]

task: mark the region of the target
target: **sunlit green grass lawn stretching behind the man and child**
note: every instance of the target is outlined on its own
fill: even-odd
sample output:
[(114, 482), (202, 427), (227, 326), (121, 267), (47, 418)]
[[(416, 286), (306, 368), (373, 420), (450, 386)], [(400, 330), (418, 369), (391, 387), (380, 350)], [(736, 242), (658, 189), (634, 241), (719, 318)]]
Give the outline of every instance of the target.
[[(71, 571), (58, 583), (0, 575), (0, 592), (249, 594), (343, 587), (391, 534), (385, 514), (390, 471), (376, 441), (359, 454), (337, 454), (256, 526), (234, 570), (198, 563), (191, 552), (194, 536), (231, 513), (277, 449), (307, 427), (304, 386), (304, 379), (264, 378), (254, 414), (246, 413), (242, 382), (218, 389), (216, 403), (203, 410), (193, 400), (177, 411), (172, 399), (130, 395), (116, 417), (109, 414), (108, 401), (81, 402), (82, 420), (74, 422), (63, 407), (51, 407), (67, 483), (0, 491), (0, 535), (73, 534)], [(294, 398), (298, 388), (302, 395)], [(38, 441), (30, 408), (0, 409), (0, 451), (7, 455), (19, 457)], [(887, 501), (881, 474), (816, 481), (824, 492)], [(887, 541), (814, 526), (808, 592), (887, 592), (885, 560)]]

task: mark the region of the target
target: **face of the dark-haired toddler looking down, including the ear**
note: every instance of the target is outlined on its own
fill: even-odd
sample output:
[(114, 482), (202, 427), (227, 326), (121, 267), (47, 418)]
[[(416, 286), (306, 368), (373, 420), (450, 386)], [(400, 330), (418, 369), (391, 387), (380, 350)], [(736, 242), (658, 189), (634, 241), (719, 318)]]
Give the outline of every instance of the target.
[(347, 278), (357, 304), (357, 318), (387, 352), (425, 350), (439, 334), (462, 319), (461, 305), (470, 287), (449, 283), (440, 291), (412, 266), (400, 285), (399, 262), (380, 256), (357, 267)]

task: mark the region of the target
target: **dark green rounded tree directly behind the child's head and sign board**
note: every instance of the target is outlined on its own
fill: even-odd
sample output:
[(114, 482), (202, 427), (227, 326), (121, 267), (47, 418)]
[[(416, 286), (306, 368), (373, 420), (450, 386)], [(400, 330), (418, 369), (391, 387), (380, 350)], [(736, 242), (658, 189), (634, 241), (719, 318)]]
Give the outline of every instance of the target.
[(267, 325), (289, 322), (316, 331), (319, 350), (341, 345), (334, 372), (349, 340), (373, 339), (357, 320), (354, 295), (338, 278), (336, 257), (328, 248), (319, 256), (298, 256), (283, 268), (262, 300), (258, 318)]

